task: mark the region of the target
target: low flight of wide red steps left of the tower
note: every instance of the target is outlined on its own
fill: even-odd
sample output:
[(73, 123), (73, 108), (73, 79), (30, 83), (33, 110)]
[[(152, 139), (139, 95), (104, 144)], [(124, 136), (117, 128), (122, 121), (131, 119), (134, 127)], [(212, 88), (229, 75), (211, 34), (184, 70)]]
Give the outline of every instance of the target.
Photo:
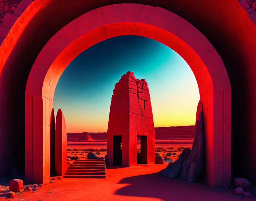
[(75, 160), (70, 164), (65, 178), (106, 178), (105, 160)]

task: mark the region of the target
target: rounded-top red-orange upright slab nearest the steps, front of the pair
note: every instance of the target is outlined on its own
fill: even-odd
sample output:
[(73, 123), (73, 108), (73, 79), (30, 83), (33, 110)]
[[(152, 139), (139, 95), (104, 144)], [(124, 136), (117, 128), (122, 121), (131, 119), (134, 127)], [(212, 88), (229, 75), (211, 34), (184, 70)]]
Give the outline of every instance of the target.
[(63, 176), (67, 171), (67, 132), (61, 109), (57, 112), (55, 129), (55, 172)]

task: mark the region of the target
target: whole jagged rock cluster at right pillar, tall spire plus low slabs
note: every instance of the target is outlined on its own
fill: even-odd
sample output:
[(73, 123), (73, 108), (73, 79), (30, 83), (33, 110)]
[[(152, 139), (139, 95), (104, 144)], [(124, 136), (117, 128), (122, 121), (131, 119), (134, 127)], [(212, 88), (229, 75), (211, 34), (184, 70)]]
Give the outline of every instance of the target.
[(192, 150), (188, 148), (183, 149), (179, 159), (162, 171), (163, 176), (176, 178), (180, 175), (189, 182), (197, 182), (200, 174), (203, 172), (204, 145), (203, 107), (200, 100), (197, 106), (195, 138)]

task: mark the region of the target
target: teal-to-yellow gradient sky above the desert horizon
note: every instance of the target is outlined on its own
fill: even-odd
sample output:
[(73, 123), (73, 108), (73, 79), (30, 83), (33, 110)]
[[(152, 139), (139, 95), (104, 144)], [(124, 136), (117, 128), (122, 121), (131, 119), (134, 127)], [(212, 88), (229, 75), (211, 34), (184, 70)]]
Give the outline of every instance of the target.
[(146, 79), (155, 127), (195, 125), (199, 90), (184, 59), (158, 41), (119, 36), (82, 52), (61, 75), (53, 106), (67, 132), (107, 132), (113, 89), (127, 71)]

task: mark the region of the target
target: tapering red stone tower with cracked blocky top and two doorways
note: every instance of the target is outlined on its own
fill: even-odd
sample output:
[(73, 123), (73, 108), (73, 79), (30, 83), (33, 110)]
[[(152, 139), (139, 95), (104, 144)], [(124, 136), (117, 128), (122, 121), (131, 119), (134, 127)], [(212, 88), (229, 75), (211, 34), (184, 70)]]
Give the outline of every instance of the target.
[(136, 166), (137, 136), (141, 138), (141, 163), (155, 163), (149, 88), (145, 79), (135, 79), (132, 72), (127, 72), (113, 90), (107, 129), (108, 164)]

